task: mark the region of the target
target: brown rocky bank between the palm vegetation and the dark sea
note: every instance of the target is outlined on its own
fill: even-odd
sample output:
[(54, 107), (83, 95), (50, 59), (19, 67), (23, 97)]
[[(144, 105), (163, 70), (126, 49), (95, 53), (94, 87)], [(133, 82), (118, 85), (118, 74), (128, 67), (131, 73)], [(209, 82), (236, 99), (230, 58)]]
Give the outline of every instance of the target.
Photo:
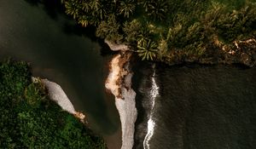
[(154, 62), (164, 63), (168, 66), (181, 65), (183, 63), (256, 66), (256, 40), (254, 38), (235, 41), (232, 44), (224, 44), (217, 40), (207, 50), (206, 54), (200, 56), (187, 55), (179, 50), (172, 50), (161, 57), (157, 56)]

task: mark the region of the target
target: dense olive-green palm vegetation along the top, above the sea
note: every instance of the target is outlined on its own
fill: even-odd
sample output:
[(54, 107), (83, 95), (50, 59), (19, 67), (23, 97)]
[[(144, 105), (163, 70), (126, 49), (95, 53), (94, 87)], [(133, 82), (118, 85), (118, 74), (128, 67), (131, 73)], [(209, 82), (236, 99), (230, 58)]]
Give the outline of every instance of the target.
[(256, 36), (255, 0), (61, 0), (96, 36), (126, 43), (142, 59), (212, 57)]

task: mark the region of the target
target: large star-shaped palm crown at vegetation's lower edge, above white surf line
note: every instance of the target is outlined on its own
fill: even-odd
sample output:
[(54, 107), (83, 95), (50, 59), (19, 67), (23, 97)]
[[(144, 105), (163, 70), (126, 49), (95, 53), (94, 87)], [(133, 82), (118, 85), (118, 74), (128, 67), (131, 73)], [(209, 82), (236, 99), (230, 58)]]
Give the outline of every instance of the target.
[(142, 60), (153, 60), (157, 52), (157, 44), (150, 39), (141, 39), (137, 42), (137, 53)]

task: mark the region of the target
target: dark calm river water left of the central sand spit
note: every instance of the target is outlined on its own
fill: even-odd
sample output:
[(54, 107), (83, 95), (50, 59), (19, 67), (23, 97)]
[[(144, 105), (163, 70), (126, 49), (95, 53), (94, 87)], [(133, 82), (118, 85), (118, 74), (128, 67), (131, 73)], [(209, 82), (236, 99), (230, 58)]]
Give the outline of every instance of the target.
[(104, 87), (112, 55), (102, 56), (104, 49), (93, 36), (70, 29), (75, 22), (55, 13), (51, 17), (40, 3), (0, 1), (0, 60), (25, 60), (33, 76), (60, 84), (75, 109), (87, 114), (90, 128), (109, 148), (119, 148), (119, 114)]

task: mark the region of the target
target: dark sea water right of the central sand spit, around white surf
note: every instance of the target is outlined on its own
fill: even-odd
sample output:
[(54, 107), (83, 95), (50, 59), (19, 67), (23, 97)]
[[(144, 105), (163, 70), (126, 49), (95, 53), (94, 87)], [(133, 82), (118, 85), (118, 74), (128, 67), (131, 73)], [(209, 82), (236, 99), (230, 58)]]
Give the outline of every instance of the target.
[[(136, 146), (148, 118), (154, 120), (151, 149), (253, 149), (256, 146), (256, 69), (241, 66), (156, 65), (159, 95), (151, 110), (151, 64), (135, 68), (138, 119)], [(145, 143), (144, 143), (145, 144)]]

